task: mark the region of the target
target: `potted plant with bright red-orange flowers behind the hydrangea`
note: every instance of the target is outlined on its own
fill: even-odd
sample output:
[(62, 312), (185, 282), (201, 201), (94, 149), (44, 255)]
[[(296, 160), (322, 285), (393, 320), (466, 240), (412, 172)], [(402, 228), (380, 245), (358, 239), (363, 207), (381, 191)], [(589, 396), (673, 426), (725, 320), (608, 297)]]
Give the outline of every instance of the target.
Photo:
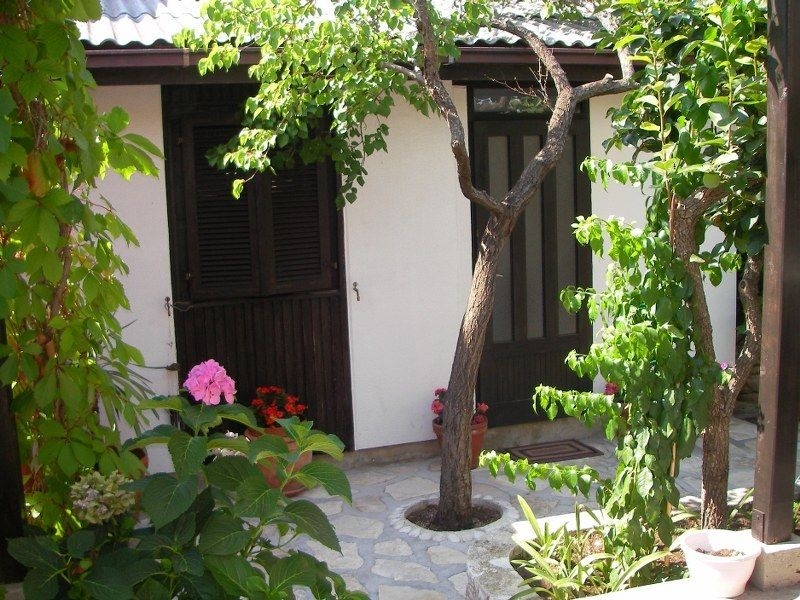
[[(308, 406), (302, 404), (300, 398), (288, 394), (284, 388), (277, 385), (259, 386), (256, 388), (256, 397), (250, 401), (250, 408), (260, 429), (248, 427), (244, 432), (248, 440), (254, 440), (262, 435), (279, 436), (288, 446), (289, 452), (297, 450), (297, 442), (292, 439), (292, 425), (284, 419), (292, 419), (293, 424), (303, 420)], [(298, 454), (296, 460), (289, 461), (286, 465), (281, 465), (275, 458), (265, 458), (259, 461), (258, 467), (264, 474), (266, 482), (278, 487), (284, 479), (277, 472), (279, 468), (285, 468), (287, 473), (294, 473), (310, 463), (311, 458), (311, 452), (302, 452)], [(306, 487), (299, 481), (290, 480), (285, 483), (283, 493), (292, 497), (305, 489)]]

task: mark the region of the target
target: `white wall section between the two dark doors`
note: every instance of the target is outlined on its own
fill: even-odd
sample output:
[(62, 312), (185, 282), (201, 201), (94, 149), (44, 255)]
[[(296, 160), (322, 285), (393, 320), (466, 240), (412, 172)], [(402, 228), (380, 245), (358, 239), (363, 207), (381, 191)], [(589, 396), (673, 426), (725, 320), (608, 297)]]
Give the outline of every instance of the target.
[[(465, 115), (465, 88), (454, 96)], [(344, 209), (357, 449), (433, 437), (433, 390), (447, 385), (471, 280), (470, 205), (446, 124), (401, 101), (389, 126), (389, 153), (367, 161)]]

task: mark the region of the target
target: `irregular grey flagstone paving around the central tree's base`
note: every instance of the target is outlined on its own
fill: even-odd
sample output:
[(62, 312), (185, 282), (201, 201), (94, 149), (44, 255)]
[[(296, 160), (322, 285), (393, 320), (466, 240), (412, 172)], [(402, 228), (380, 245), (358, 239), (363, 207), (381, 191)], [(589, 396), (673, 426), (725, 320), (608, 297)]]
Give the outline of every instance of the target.
[[(731, 488), (753, 485), (752, 450), (755, 426), (734, 419), (731, 427)], [(574, 461), (614, 472), (613, 446), (601, 434), (582, 439), (603, 452), (602, 456)], [(700, 444), (691, 459), (681, 465), (679, 487), (689, 496), (700, 493)], [(521, 517), (517, 495), (522, 496), (537, 516), (572, 512), (575, 498), (540, 483), (535, 491), (524, 481), (494, 479), (485, 469), (472, 471), (474, 496), (504, 507), (499, 523), (468, 532), (431, 532), (405, 520), (414, 504), (435, 497), (439, 485), (438, 457), (402, 463), (370, 465), (347, 469), (353, 503), (331, 500), (323, 490), (309, 490), (303, 498), (319, 504), (329, 516), (342, 554), (320, 544), (302, 540), (297, 544), (325, 560), (341, 574), (352, 589), (365, 591), (373, 600), (454, 600), (463, 598), (467, 587), (466, 554), (475, 539), (507, 531)], [(590, 506), (592, 502), (587, 502)], [(299, 597), (309, 597), (302, 596)]]

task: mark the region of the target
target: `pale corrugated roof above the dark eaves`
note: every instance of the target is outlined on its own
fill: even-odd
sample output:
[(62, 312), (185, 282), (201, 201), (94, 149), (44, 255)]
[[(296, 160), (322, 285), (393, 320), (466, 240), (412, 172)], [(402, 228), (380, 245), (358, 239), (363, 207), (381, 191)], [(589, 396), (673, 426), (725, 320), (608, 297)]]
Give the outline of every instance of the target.
[[(199, 29), (201, 0), (100, 0), (103, 16), (98, 21), (79, 23), (81, 38), (90, 46), (130, 44), (152, 46), (170, 43), (182, 29)], [(446, 6), (446, 0), (436, 0)], [(449, 2), (452, 4), (452, 2)], [(511, 0), (514, 13), (533, 13), (537, 0)], [(595, 22), (565, 23), (553, 19), (531, 22), (531, 29), (550, 46), (592, 46)], [(516, 41), (507, 33), (482, 30), (477, 36), (462, 40), (466, 45), (508, 44)]]

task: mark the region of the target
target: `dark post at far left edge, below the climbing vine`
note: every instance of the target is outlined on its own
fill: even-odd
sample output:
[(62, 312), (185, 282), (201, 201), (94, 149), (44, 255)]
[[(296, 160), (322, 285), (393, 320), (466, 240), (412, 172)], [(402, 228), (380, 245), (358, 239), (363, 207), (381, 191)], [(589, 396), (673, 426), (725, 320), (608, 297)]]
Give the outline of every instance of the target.
[[(6, 323), (0, 319), (0, 343), (6, 343)], [(9, 538), (22, 536), (22, 472), (17, 424), (11, 414), (11, 388), (0, 387), (0, 583), (21, 581), (25, 570), (8, 553)]]

